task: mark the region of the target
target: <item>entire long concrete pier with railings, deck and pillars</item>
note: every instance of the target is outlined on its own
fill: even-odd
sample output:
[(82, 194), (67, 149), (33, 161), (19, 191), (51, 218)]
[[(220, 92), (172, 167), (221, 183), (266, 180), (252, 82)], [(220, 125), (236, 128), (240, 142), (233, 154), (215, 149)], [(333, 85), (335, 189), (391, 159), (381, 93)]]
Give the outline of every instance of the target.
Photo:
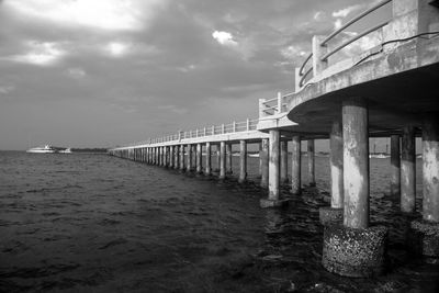
[[(346, 37), (349, 27), (392, 5), (391, 19)], [(333, 61), (353, 42), (375, 34), (376, 47)], [(439, 1), (385, 0), (327, 36), (314, 36), (312, 52), (295, 69), (293, 92), (259, 100), (259, 117), (203, 126), (115, 147), (109, 155), (147, 165), (212, 176), (230, 174), (232, 145), (239, 145), (238, 181), (247, 181), (247, 149), (259, 149), (263, 209), (289, 203), (281, 185), (301, 195), (301, 142), (306, 140), (309, 185), (315, 185), (314, 139), (329, 139), (330, 205), (320, 209), (325, 226), (322, 264), (346, 277), (384, 272), (387, 228), (370, 221), (369, 138), (391, 138), (389, 194), (401, 212), (415, 212), (415, 137), (423, 140), (423, 218), (410, 219), (414, 252), (439, 262)], [(288, 169), (288, 143), (291, 170)], [(202, 155), (205, 154), (205, 166)], [(418, 194), (419, 195), (419, 194)]]

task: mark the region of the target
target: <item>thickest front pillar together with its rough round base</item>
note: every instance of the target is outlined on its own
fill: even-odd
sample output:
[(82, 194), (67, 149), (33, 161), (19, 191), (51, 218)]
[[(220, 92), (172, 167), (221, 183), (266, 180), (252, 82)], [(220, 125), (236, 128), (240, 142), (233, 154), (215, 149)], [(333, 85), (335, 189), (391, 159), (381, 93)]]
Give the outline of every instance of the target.
[(347, 277), (384, 271), (387, 228), (369, 227), (368, 105), (361, 98), (342, 102), (344, 225), (325, 225), (323, 267)]

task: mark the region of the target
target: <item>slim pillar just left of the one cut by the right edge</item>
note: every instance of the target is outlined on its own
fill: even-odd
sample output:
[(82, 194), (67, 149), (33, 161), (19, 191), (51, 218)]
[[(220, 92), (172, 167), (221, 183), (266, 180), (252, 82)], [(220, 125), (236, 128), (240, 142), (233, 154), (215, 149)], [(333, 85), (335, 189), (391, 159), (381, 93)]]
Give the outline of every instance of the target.
[(401, 211), (415, 212), (416, 198), (416, 154), (415, 127), (412, 125), (403, 128), (401, 158)]

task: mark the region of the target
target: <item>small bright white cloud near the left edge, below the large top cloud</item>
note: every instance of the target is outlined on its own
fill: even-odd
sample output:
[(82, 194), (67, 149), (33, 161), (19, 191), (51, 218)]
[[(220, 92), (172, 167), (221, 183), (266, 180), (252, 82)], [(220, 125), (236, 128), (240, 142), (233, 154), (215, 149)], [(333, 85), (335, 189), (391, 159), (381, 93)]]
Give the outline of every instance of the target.
[(52, 66), (67, 54), (60, 44), (55, 42), (29, 41), (25, 43), (25, 47), (27, 49), (26, 53), (7, 56), (3, 59), (37, 66)]

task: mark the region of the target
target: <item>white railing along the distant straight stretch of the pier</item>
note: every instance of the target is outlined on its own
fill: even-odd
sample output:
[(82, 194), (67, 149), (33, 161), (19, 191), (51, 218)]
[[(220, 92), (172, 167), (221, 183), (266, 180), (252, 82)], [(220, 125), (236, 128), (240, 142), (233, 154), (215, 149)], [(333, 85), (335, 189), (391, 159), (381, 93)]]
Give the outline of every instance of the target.
[(258, 122), (259, 120), (247, 119), (246, 121), (241, 122), (232, 122), (229, 124), (212, 125), (203, 128), (196, 128), (193, 131), (185, 131), (185, 132), (181, 131), (178, 134), (149, 138), (147, 140), (132, 143), (124, 147), (119, 147), (119, 148), (134, 147), (140, 145), (154, 145), (154, 144), (169, 143), (169, 142), (181, 142), (182, 139), (189, 139), (189, 138), (256, 131)]

